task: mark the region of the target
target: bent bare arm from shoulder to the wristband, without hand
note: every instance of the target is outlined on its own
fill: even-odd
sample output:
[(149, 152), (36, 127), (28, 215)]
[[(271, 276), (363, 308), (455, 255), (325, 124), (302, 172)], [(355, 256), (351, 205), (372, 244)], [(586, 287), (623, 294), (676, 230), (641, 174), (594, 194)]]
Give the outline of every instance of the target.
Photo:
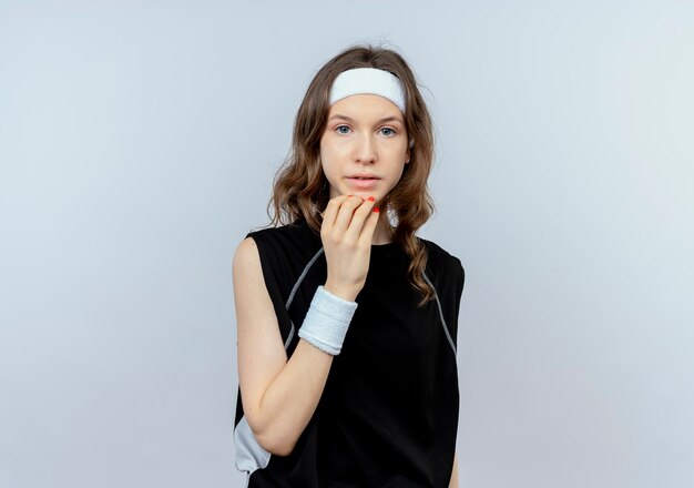
[(233, 267), (244, 413), (264, 449), (288, 455), (318, 404), (333, 356), (302, 339), (287, 360), (252, 238), (238, 246)]

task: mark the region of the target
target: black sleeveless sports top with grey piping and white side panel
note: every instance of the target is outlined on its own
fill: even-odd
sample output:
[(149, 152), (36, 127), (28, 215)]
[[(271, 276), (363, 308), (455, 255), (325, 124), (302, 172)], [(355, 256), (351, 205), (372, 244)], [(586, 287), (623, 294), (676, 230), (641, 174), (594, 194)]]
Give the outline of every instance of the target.
[[(297, 328), (327, 277), (320, 236), (304, 221), (248, 235), (257, 244), (290, 356)], [(249, 472), (248, 487), (448, 487), (458, 427), (455, 344), (465, 272), (457, 257), (421, 242), (428, 252), (425, 279), (436, 299), (417, 306), (409, 258), (397, 243), (371, 246), (341, 353), (289, 456), (271, 456), (257, 444), (248, 447), (253, 438), (236, 438), (245, 421), (238, 397), (237, 467)], [(247, 424), (245, 431), (252, 437)], [(248, 451), (254, 449), (261, 453)], [(239, 455), (252, 461), (239, 466)]]

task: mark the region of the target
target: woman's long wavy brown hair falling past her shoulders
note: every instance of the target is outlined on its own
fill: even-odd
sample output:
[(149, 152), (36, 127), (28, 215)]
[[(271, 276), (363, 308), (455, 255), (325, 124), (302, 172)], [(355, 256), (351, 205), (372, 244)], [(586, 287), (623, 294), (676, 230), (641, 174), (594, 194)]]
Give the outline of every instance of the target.
[(274, 226), (305, 218), (312, 228), (320, 231), (320, 212), (329, 201), (329, 184), (320, 165), (320, 138), (330, 109), (329, 92), (337, 75), (354, 68), (389, 71), (405, 88), (405, 126), (414, 145), (409, 164), (405, 165), (400, 181), (387, 196), (386, 211), (395, 240), (410, 257), (408, 278), (420, 293), (421, 306), (435, 294), (423, 277), (426, 248), (415, 235), (433, 213), (427, 185), (433, 163), (433, 129), (415, 75), (397, 52), (370, 45), (349, 48), (316, 73), (296, 114), (292, 150), (275, 176), (268, 214)]

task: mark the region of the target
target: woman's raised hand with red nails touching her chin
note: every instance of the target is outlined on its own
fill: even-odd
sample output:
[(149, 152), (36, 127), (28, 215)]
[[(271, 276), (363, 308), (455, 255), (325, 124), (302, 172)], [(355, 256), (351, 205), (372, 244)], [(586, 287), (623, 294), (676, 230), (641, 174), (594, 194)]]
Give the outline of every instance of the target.
[(320, 240), (328, 263), (324, 287), (331, 294), (354, 302), (364, 287), (378, 216), (372, 199), (340, 195), (328, 202)]

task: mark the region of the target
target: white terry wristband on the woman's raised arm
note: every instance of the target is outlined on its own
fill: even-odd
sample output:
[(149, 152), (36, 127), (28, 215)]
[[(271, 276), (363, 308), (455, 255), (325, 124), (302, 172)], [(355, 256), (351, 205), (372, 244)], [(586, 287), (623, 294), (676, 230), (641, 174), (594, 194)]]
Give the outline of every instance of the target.
[(306, 318), (299, 328), (299, 337), (333, 356), (343, 348), (356, 302), (347, 302), (318, 286)]

